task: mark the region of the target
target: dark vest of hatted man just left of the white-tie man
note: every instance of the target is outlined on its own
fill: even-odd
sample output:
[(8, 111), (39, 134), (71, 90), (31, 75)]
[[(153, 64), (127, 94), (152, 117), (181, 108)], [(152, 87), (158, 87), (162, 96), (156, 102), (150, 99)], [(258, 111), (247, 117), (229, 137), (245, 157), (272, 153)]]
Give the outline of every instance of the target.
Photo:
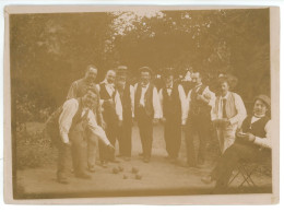
[(122, 117), (123, 121), (132, 120), (132, 108), (131, 108), (131, 96), (130, 96), (130, 84), (126, 83), (125, 90), (119, 92), (121, 104), (122, 104)]

